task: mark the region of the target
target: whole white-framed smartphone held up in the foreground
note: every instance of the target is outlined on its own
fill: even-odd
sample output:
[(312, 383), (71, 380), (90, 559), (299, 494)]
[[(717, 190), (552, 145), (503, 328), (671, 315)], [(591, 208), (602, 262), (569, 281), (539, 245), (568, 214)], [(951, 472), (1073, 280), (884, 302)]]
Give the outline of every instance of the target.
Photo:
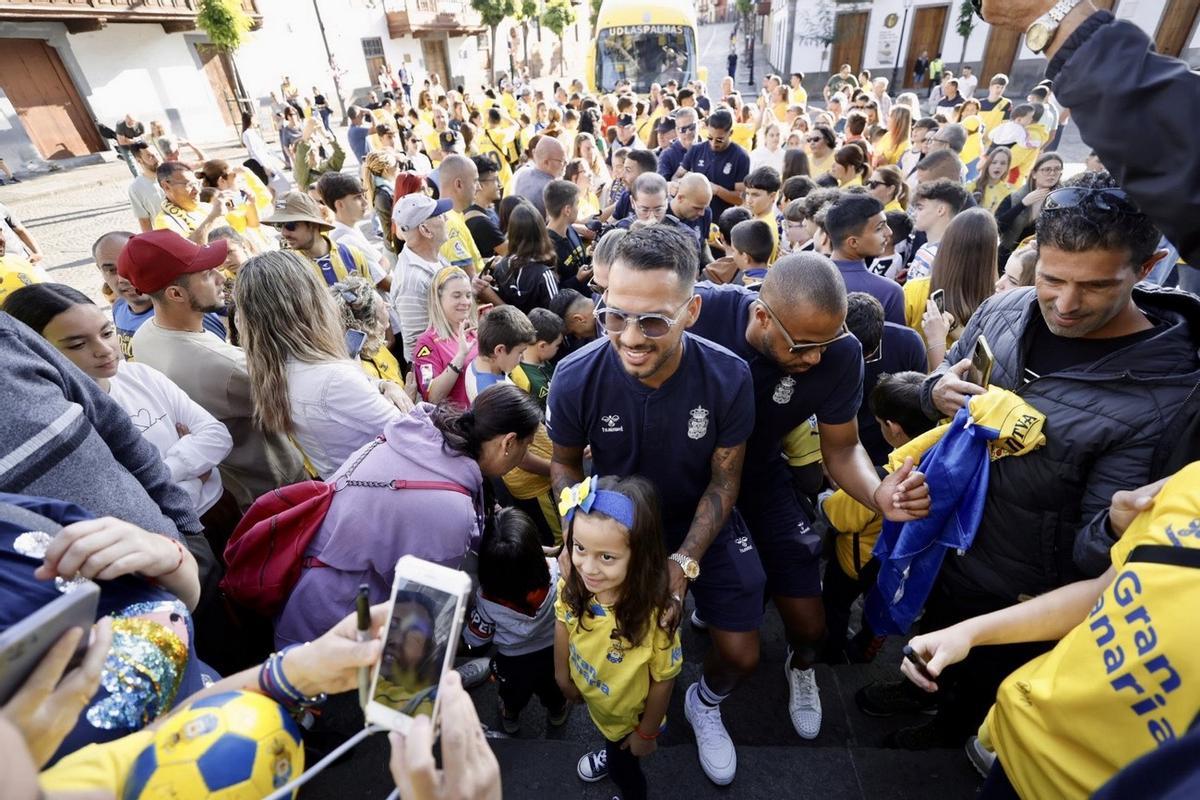
[(368, 722), (404, 733), (414, 716), (437, 720), (438, 685), (451, 668), (469, 593), (466, 572), (413, 555), (396, 563)]

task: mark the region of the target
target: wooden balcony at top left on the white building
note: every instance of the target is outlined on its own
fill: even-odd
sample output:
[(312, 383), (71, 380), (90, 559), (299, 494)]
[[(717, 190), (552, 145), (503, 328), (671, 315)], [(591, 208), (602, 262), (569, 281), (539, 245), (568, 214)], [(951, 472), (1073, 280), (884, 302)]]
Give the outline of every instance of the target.
[[(196, 28), (198, 0), (0, 0), (0, 22), (61, 22), (77, 34), (112, 23), (158, 23), (168, 32)], [(254, 22), (263, 14), (254, 0), (241, 0)]]

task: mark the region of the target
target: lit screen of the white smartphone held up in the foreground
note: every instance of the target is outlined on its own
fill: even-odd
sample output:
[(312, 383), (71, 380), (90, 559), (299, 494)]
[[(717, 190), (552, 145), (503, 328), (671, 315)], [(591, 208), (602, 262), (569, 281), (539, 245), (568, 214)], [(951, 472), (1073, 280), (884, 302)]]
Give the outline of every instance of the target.
[(376, 703), (408, 716), (433, 712), (456, 607), (452, 594), (401, 581), (384, 639)]

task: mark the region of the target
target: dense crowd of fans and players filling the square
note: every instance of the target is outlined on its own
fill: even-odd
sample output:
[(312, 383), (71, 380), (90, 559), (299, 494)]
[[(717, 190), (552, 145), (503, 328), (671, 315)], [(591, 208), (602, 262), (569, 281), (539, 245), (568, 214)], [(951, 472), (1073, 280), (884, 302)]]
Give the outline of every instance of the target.
[[(1028, 22), (1000, 5), (994, 24)], [(856, 696), (911, 715), (886, 746), (965, 746), (990, 798), (1114, 776), (1128, 796), (1122, 770), (1186, 746), (1200, 708), (1177, 604), (1196, 585), (1177, 551), (1200, 546), (1200, 246), (1187, 178), (1074, 98), (1154, 80), (1194, 100), (1196, 78), (1080, 8), (1025, 101), (940, 59), (924, 102), (848, 65), (823, 103), (803, 74), (744, 100), (731, 79), (594, 95), (401, 70), (342, 132), (283, 78), (240, 163), (127, 116), (131, 230), (92, 246), (100, 303), (0, 206), (0, 398), (20, 409), (0, 630), (77, 578), (104, 616), (70, 682), (52, 654), (4, 708), (6, 774), (119, 795), (122, 742), (188, 698), (268, 691), (272, 650), (289, 710), (350, 688), (380, 646), (354, 642), (359, 587), (377, 637), (416, 555), (476, 587), (461, 651), (499, 694), (480, 717), (515, 734), (534, 696), (551, 727), (584, 704), (602, 741), (578, 777), (629, 800), (682, 625), (712, 642), (679, 687), (700, 766), (734, 780), (721, 709), (754, 702), (770, 606), (799, 738), (822, 730), (815, 664), (919, 632), (905, 674)], [(1104, 52), (1136, 54), (1117, 89), (1082, 66)], [(1064, 180), (1070, 115), (1097, 151)], [(292, 578), (245, 594), (256, 501), (305, 481), (331, 499), (302, 553), (271, 555)], [(478, 734), (466, 697), (443, 684), (444, 732)], [(418, 730), (394, 740), (404, 796), (432, 769)], [(479, 747), (445, 769), (498, 796)]]

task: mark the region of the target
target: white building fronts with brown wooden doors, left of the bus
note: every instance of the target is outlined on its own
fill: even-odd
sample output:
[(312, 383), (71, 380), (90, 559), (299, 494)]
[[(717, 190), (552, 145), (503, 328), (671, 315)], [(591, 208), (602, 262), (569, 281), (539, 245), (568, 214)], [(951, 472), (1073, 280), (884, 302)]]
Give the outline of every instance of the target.
[[(242, 110), (264, 119), (284, 76), (302, 96), (319, 90), (335, 113), (365, 98), (380, 66), (408, 67), (418, 88), (431, 74), (444, 86), (490, 79), (490, 31), (467, 0), (242, 7), (254, 30), (223, 54), (196, 28), (197, 0), (0, 0), (0, 157), (20, 170), (98, 152), (110, 143), (97, 126), (126, 113), (191, 142), (227, 142), (240, 134)], [(558, 74), (565, 53), (570, 74), (590, 38), (587, 8), (576, 16), (562, 43), (535, 23), (505, 20), (498, 72)]]

